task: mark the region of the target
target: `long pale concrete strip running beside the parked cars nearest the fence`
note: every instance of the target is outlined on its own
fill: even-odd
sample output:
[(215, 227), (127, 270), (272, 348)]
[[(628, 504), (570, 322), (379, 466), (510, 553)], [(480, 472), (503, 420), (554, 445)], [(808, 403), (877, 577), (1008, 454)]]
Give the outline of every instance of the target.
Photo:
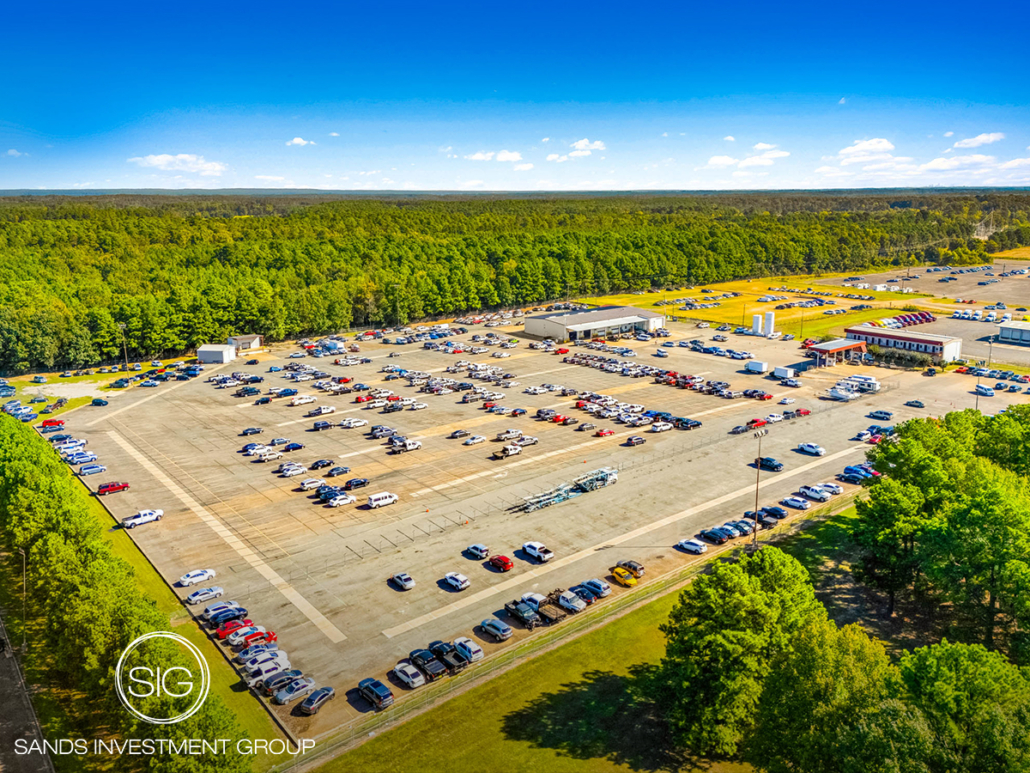
[[(762, 481), (762, 484), (776, 483), (781, 480), (786, 480), (796, 475), (801, 475), (815, 467), (819, 467), (821, 465), (826, 464), (827, 462), (833, 462), (850, 453), (855, 453), (856, 451), (864, 451), (864, 450), (866, 450), (866, 447), (864, 445), (856, 445), (851, 448), (845, 448), (844, 450), (837, 451), (836, 453), (831, 453), (828, 457), (820, 457), (818, 460), (810, 462), (809, 464), (805, 465), (801, 465), (796, 470), (785, 472), (781, 475), (777, 475), (776, 477), (766, 477), (765, 480)], [(706, 510), (711, 510), (714, 507), (719, 507), (721, 505), (724, 505), (727, 502), (736, 499), (737, 497), (754, 494), (754, 491), (755, 486), (753, 485), (742, 486), (741, 489), (737, 489), (734, 492), (730, 492), (729, 494), (724, 494), (721, 497), (710, 500), (708, 502), (703, 502), (702, 504), (695, 505), (693, 507), (688, 507), (686, 510), (675, 512), (672, 515), (666, 515), (665, 517), (655, 520), (652, 524), (642, 526), (639, 529), (634, 529), (631, 532), (626, 532), (625, 534), (615, 537), (614, 539), (606, 540), (605, 542), (597, 545), (593, 545), (592, 547), (584, 548), (583, 550), (575, 552), (572, 556), (565, 556), (564, 558), (548, 562), (547, 564), (542, 564), (541, 566), (535, 567), (534, 569), (530, 569), (527, 572), (522, 572), (521, 574), (518, 574), (514, 577), (510, 577), (509, 579), (499, 582), (495, 585), (491, 585), (490, 587), (484, 589), (478, 593), (472, 594), (471, 596), (464, 596), (460, 600), (447, 604), (446, 606), (443, 606), (440, 609), (437, 609), (433, 612), (426, 612), (423, 615), (420, 615), (418, 617), (413, 617), (410, 620), (402, 623), (400, 626), (388, 628), (382, 632), (383, 636), (385, 636), (387, 639), (391, 639), (394, 636), (399, 636), (400, 634), (412, 631), (418, 628), (419, 626), (425, 625), (426, 623), (432, 623), (433, 620), (440, 619), (441, 617), (444, 617), (445, 615), (448, 615), (451, 612), (455, 612), (459, 609), (464, 609), (465, 607), (471, 606), (473, 604), (478, 604), (481, 601), (485, 601), (486, 599), (489, 599), (491, 596), (496, 596), (499, 594), (506, 593), (508, 591), (511, 591), (512, 589), (518, 587), (519, 585), (524, 586), (526, 581), (529, 579), (533, 579), (535, 577), (540, 577), (544, 574), (547, 574), (548, 572), (553, 572), (556, 569), (561, 569), (563, 567), (570, 566), (571, 564), (575, 564), (577, 561), (580, 561), (581, 559), (585, 559), (589, 556), (595, 554), (597, 550), (614, 547), (616, 545), (621, 545), (624, 542), (637, 539), (638, 537), (641, 537), (649, 532), (653, 532), (657, 529), (671, 526), (672, 524), (675, 524), (678, 520), (682, 520), (683, 518), (689, 517), (690, 515), (695, 515), (699, 512), (705, 512)]]

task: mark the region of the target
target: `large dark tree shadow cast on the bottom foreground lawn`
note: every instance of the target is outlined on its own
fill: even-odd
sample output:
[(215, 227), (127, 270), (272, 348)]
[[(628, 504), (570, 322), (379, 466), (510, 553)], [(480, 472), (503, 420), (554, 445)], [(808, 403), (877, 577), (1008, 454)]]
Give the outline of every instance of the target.
[(654, 666), (629, 674), (589, 671), (504, 718), (507, 738), (575, 760), (604, 759), (634, 771), (703, 770), (674, 748), (656, 706), (646, 696)]

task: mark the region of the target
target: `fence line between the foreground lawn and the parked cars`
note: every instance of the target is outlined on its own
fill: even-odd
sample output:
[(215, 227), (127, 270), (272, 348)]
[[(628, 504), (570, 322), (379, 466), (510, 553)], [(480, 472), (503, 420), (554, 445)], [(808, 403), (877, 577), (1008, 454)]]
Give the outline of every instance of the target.
[[(820, 520), (847, 509), (858, 498), (858, 494), (859, 492), (856, 491), (844, 495), (831, 504), (804, 511), (787, 520), (781, 522), (769, 531), (760, 532), (759, 546), (779, 542), (800, 531), (804, 526), (814, 520)], [(424, 687), (412, 693), (410, 697), (399, 701), (383, 713), (373, 713), (364, 716), (348, 725), (316, 736), (314, 740), (316, 742), (324, 740), (325, 745), (317, 751), (307, 754), (304, 759), (275, 766), (270, 769), (269, 773), (284, 773), (288, 770), (301, 767), (308, 768), (313, 764), (328, 762), (330, 759), (345, 751), (348, 747), (357, 745), (375, 737), (378, 733), (406, 721), (411, 716), (448, 700), (459, 691), (485, 682), (500, 675), (503, 671), (518, 665), (521, 661), (541, 654), (552, 645), (564, 643), (589, 629), (604, 626), (611, 618), (630, 607), (643, 605), (658, 596), (675, 590), (678, 585), (706, 571), (714, 560), (729, 556), (745, 548), (746, 545), (750, 545), (750, 542), (745, 543), (742, 540), (735, 544), (729, 544), (724, 548), (710, 550), (705, 558), (693, 561), (682, 569), (674, 570), (647, 584), (638, 585), (634, 589), (619, 593), (615, 598), (606, 600), (600, 604), (595, 604), (586, 611), (580, 612), (575, 617), (554, 628), (548, 627), (541, 633), (533, 634), (528, 640), (515, 645), (511, 649), (496, 656), (490, 656), (479, 663), (472, 664), (457, 676), (447, 677), (443, 681), (426, 684)]]

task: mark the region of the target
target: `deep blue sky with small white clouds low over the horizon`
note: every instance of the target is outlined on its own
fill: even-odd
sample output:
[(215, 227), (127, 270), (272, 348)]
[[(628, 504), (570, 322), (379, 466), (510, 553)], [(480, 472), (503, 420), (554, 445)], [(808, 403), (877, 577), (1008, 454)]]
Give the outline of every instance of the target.
[(33, 5), (0, 189), (1030, 184), (1026, 2)]

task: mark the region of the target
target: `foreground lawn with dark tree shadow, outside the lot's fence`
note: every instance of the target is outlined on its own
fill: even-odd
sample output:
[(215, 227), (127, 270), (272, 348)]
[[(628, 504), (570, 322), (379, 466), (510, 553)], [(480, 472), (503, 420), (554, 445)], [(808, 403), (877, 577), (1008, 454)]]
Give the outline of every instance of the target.
[[(817, 585), (837, 566), (854, 508), (780, 546)], [(672, 749), (662, 725), (640, 696), (643, 674), (664, 653), (658, 626), (668, 594), (604, 628), (541, 654), (486, 684), (374, 738), (318, 773), (744, 773), (740, 763), (690, 760)], [(487, 762), (489, 761), (489, 762)]]

